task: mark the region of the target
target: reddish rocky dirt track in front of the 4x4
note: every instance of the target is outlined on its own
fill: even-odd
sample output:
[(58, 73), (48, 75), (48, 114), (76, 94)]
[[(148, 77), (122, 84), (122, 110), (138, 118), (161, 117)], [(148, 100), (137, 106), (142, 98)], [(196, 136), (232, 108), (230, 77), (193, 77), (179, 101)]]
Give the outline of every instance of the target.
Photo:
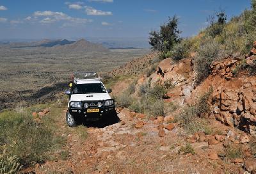
[[(63, 134), (68, 137), (65, 146), (68, 159), (36, 164), (35, 172), (234, 173), (241, 168), (239, 162), (225, 163), (220, 157), (214, 157), (223, 148), (220, 141), (214, 141), (214, 145), (209, 146), (207, 139), (214, 139), (214, 136), (200, 134), (198, 140), (193, 136), (185, 136), (175, 124), (165, 123), (172, 118), (146, 120), (144, 115), (135, 115), (128, 109), (120, 111), (118, 117), (122, 121), (113, 125), (89, 127), (85, 140), (80, 139), (74, 131)], [(216, 126), (221, 127), (221, 124)], [(64, 111), (60, 127), (63, 132), (67, 129)], [(195, 155), (179, 152), (188, 140), (193, 142)]]

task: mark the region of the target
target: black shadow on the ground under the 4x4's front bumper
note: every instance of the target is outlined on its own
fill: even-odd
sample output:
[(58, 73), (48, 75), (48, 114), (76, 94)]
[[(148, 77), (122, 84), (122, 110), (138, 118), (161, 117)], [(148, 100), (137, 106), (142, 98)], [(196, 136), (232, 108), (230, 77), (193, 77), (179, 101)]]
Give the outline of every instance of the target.
[(97, 128), (104, 128), (109, 125), (113, 125), (115, 123), (120, 122), (120, 118), (118, 117), (117, 113), (112, 113), (109, 115), (105, 115), (104, 118), (97, 120), (97, 121), (90, 121), (84, 120), (83, 125), (86, 127), (97, 127)]

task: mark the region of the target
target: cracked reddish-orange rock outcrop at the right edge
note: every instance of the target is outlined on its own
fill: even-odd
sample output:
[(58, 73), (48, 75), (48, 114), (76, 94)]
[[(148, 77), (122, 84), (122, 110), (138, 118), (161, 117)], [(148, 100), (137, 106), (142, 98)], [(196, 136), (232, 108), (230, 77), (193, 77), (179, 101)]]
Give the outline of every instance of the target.
[[(254, 45), (256, 47), (256, 45)], [(229, 85), (222, 82), (215, 86), (212, 97), (212, 115), (221, 123), (256, 135), (256, 81), (255, 77), (243, 75), (234, 78), (232, 72), (237, 67), (251, 65), (256, 59), (254, 55), (246, 59), (229, 57), (223, 61), (212, 63), (212, 77), (218, 75)]]

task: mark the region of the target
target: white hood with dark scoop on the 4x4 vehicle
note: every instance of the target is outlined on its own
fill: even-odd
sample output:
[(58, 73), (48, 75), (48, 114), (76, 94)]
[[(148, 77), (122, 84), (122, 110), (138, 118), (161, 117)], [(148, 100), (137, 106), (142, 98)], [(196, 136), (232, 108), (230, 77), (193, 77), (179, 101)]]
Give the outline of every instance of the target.
[(95, 101), (95, 100), (109, 100), (111, 97), (108, 93), (88, 93), (88, 94), (72, 94), (70, 101)]

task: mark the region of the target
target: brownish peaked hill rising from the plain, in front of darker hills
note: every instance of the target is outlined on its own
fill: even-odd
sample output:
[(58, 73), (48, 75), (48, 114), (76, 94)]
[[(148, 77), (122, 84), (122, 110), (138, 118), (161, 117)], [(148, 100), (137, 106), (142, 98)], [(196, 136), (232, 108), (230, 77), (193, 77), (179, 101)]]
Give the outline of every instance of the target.
[(66, 44), (66, 45), (56, 45), (51, 47), (54, 51), (88, 51), (88, 52), (104, 52), (108, 51), (106, 47), (100, 44), (88, 42), (87, 40), (81, 39), (77, 42)]

